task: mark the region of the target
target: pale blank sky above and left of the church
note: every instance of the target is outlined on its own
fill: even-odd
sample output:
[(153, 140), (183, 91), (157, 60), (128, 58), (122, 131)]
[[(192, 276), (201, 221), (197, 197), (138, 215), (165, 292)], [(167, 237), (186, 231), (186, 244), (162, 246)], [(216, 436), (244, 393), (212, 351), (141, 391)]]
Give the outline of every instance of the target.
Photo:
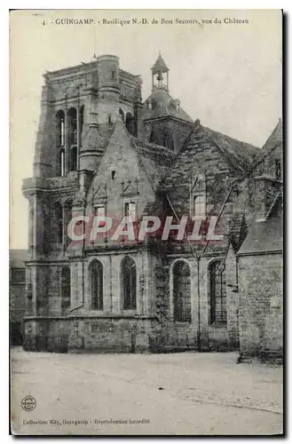
[[(249, 25), (56, 25), (56, 18), (249, 19)], [(150, 92), (158, 52), (170, 68), (170, 94), (203, 125), (261, 147), (281, 116), (280, 11), (26, 11), (11, 14), (11, 248), (28, 247), (28, 205), (43, 73), (103, 53), (142, 75)]]

